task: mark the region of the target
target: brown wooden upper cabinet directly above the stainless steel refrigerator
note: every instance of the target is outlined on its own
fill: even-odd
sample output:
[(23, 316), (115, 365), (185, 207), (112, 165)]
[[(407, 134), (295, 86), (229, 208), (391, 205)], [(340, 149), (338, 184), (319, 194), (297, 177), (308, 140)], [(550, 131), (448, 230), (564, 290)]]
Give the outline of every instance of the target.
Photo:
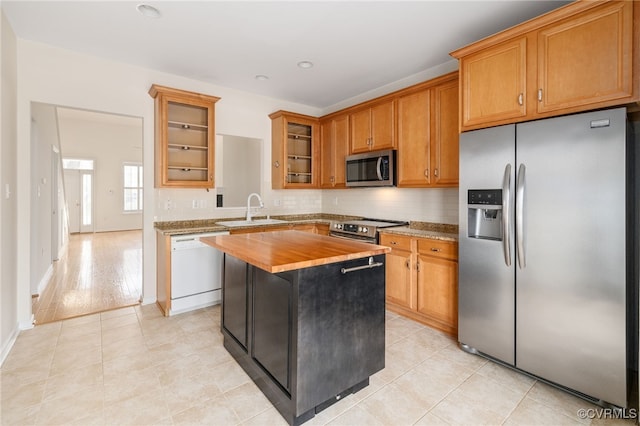
[(638, 2), (576, 1), (452, 52), (461, 130), (637, 102), (634, 15)]

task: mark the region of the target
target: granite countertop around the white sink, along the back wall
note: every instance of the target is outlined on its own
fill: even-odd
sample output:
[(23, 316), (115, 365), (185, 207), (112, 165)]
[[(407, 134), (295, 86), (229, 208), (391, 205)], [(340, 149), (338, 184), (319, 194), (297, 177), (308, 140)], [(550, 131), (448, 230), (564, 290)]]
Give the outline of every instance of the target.
[[(265, 216), (254, 216), (254, 219), (264, 219)], [(331, 220), (352, 220), (359, 219), (357, 216), (340, 216), (332, 214), (306, 214), (306, 215), (284, 215), (284, 216), (271, 216), (272, 219), (285, 220), (287, 223), (273, 223), (273, 224), (256, 224), (247, 226), (234, 226), (233, 229), (246, 229), (256, 226), (260, 227), (282, 227), (286, 225), (296, 225), (304, 223), (329, 223)], [(163, 235), (186, 235), (186, 234), (201, 234), (208, 232), (221, 232), (228, 231), (229, 227), (218, 225), (218, 222), (224, 222), (229, 220), (243, 220), (244, 217), (236, 218), (216, 218), (216, 219), (199, 219), (199, 220), (179, 220), (179, 221), (167, 221), (156, 222), (154, 227)]]

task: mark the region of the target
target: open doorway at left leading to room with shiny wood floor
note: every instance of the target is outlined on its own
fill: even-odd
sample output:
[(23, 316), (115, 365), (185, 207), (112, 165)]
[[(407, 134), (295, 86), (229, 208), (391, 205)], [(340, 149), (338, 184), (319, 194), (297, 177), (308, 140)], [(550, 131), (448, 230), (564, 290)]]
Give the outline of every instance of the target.
[(36, 323), (139, 303), (142, 203), (127, 208), (123, 167), (142, 164), (142, 118), (37, 102), (31, 114)]

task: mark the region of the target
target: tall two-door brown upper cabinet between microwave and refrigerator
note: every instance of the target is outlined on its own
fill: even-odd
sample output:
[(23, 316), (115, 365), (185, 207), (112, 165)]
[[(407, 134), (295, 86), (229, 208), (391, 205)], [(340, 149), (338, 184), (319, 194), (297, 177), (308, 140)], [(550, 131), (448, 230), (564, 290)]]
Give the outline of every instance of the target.
[(398, 186), (458, 185), (457, 77), (430, 80), (398, 98)]

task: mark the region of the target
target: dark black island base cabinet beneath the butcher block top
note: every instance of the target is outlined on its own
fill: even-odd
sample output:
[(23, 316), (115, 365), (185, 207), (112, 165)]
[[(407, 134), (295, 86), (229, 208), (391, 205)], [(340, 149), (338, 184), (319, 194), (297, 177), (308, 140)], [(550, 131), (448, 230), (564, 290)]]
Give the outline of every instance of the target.
[(224, 346), (280, 414), (299, 425), (384, 368), (382, 266), (369, 258), (271, 274), (225, 254)]

